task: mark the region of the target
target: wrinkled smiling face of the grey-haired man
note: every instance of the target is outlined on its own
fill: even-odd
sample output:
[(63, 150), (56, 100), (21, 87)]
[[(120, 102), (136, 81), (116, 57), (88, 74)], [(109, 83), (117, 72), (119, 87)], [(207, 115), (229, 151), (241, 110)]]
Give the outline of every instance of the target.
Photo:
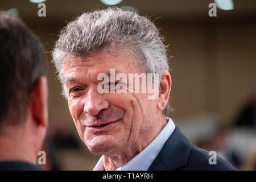
[[(115, 69), (115, 75), (124, 73), (127, 82), (129, 73), (143, 73), (135, 56), (129, 51), (116, 50), (77, 60), (67, 57), (64, 74), (69, 111), (81, 140), (98, 155), (145, 147), (147, 138), (155, 134), (156, 100), (148, 100), (147, 93), (99, 93), (97, 90), (102, 81), (97, 80), (98, 75), (109, 73), (110, 69)], [(134, 88), (133, 85), (127, 87)]]

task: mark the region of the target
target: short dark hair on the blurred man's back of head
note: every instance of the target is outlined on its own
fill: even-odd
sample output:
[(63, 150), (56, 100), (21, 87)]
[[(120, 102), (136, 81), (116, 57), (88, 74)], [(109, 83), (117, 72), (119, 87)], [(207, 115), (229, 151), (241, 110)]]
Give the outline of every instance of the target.
[(31, 90), (45, 75), (42, 44), (21, 20), (0, 11), (0, 131), (26, 119)]

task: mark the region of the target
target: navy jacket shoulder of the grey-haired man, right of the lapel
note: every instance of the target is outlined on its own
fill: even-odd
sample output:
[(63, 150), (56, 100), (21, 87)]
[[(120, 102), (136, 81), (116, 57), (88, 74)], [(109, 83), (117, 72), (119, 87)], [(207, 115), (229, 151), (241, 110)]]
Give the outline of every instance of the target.
[(234, 171), (237, 169), (218, 156), (215, 151), (209, 152), (193, 145), (188, 156), (187, 165), (178, 170)]

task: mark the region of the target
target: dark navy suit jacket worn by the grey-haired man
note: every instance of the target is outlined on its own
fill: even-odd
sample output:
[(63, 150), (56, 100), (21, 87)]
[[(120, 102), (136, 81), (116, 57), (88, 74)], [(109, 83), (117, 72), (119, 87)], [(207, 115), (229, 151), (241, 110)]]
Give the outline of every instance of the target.
[(237, 170), (217, 156), (216, 164), (209, 164), (209, 152), (194, 146), (176, 126), (148, 170)]

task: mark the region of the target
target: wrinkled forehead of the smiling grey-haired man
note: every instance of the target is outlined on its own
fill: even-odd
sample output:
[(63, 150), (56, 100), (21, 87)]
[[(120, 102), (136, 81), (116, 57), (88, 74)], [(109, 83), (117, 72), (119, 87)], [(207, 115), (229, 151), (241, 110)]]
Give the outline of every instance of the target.
[(74, 72), (83, 73), (110, 73), (110, 69), (115, 69), (117, 73), (142, 73), (141, 66), (138, 65), (137, 57), (126, 49), (105, 49), (80, 57), (67, 55), (65, 59), (64, 75)]

